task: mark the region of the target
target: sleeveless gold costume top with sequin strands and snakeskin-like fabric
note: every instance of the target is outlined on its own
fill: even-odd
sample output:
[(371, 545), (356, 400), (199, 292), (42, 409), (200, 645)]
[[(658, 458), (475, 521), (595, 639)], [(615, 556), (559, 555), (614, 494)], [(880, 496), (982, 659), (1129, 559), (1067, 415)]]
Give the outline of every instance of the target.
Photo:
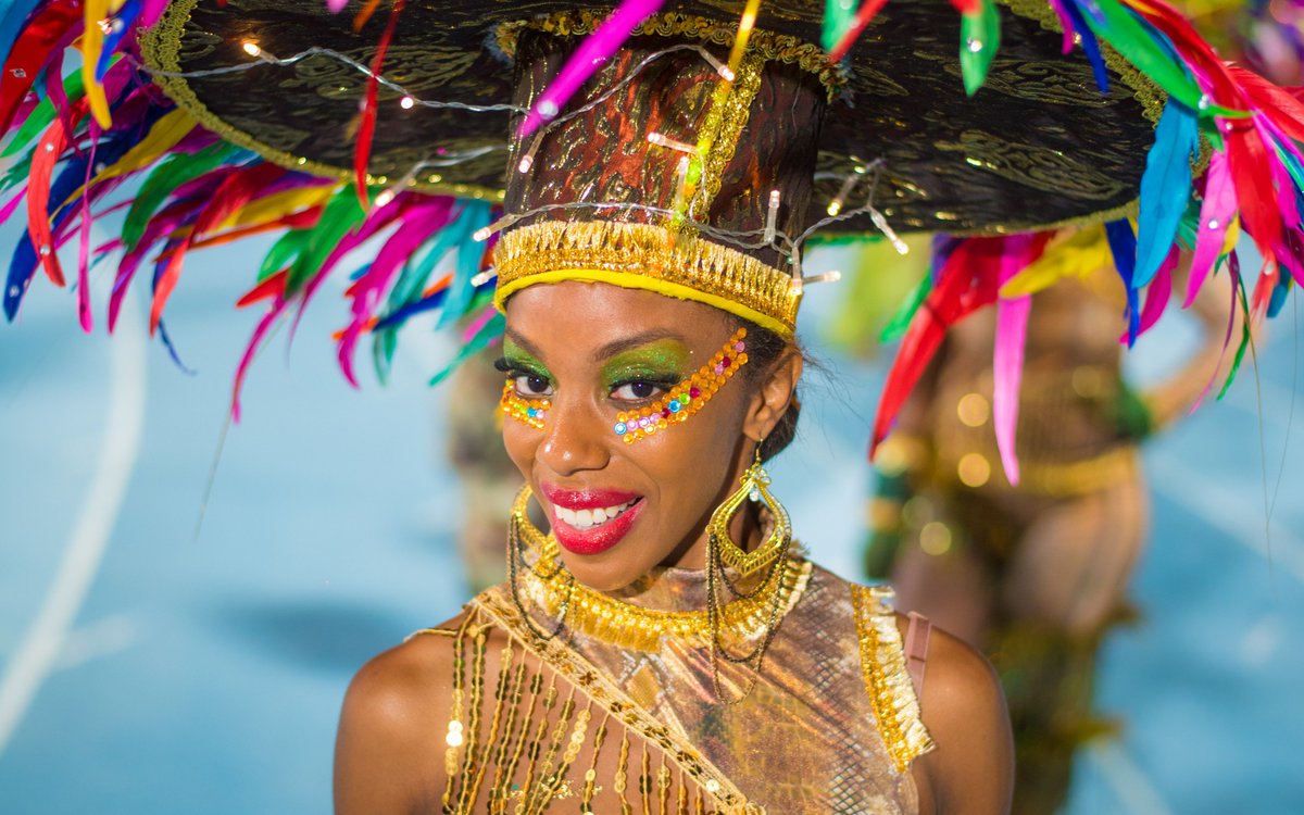
[(704, 609), (704, 572), (592, 593), (588, 625), (558, 627), (533, 571), (520, 602), (507, 584), (476, 597), (456, 631), (429, 631), (454, 638), (456, 666), (443, 811), (915, 812), (909, 767), (932, 742), (891, 589), (785, 569), (759, 673), (720, 666), (732, 703), (704, 612), (664, 610)]

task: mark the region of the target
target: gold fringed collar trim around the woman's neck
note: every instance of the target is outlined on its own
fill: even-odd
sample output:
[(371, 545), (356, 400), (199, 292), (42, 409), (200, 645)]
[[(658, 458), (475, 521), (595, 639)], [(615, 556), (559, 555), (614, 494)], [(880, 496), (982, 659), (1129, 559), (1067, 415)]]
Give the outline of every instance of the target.
[[(669, 612), (645, 609), (623, 602), (602, 592), (593, 591), (566, 578), (558, 558), (557, 540), (544, 535), (529, 522), (526, 507), (531, 492), (527, 486), (516, 497), (511, 514), (516, 519), (522, 541), (537, 557), (529, 569), (522, 571), (524, 593), (549, 614), (558, 614), (567, 602), (566, 627), (619, 648), (655, 652), (662, 638), (675, 638), (692, 647), (711, 644), (711, 625), (707, 610)], [(721, 627), (742, 632), (743, 639), (760, 635), (773, 612), (775, 593), (778, 597), (778, 617), (793, 610), (806, 592), (812, 565), (801, 553), (788, 559), (778, 579), (741, 597), (721, 609)]]

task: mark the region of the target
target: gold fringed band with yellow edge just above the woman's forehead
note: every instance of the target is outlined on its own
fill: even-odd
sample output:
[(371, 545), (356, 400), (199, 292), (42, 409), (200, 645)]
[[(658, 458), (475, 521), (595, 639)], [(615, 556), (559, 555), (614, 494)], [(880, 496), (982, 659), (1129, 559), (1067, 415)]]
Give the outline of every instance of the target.
[(535, 283), (591, 280), (705, 303), (790, 338), (801, 289), (773, 266), (691, 235), (610, 220), (548, 220), (515, 228), (494, 248), (499, 310)]

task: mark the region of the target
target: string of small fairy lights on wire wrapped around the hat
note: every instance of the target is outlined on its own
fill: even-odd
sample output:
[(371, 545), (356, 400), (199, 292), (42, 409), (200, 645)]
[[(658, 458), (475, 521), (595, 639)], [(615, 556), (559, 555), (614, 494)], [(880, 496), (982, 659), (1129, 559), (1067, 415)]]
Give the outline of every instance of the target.
[[(549, 110), (546, 106), (541, 106), (539, 113), (542, 119), (542, 124), (532, 134), (529, 143), (522, 151), (520, 158), (514, 170), (520, 173), (529, 172), (533, 167), (536, 154), (540, 146), (542, 145), (544, 138), (549, 133), (556, 132), (557, 128), (565, 125), (569, 121), (572, 121), (579, 116), (583, 116), (584, 113), (601, 106), (604, 102), (609, 100), (614, 95), (619, 94), (622, 90), (629, 87), (629, 85), (632, 83), (639, 77), (639, 74), (647, 70), (652, 64), (670, 55), (683, 53), (683, 52), (695, 53), (698, 57), (705, 61), (716, 74), (720, 76), (721, 82), (732, 85), (737, 77), (738, 67), (741, 65), (743, 53), (746, 52), (747, 40), (755, 26), (759, 5), (760, 5), (759, 0), (750, 0), (747, 7), (745, 8), (728, 61), (721, 61), (709, 50), (707, 50), (700, 44), (678, 43), (647, 55), (638, 64), (631, 67), (630, 70), (626, 73), (626, 76), (622, 77), (617, 83), (608, 87), (604, 93), (599, 94), (597, 96), (589, 98), (582, 106), (569, 107), (565, 112), (556, 108)], [(245, 40), (244, 43), (241, 43), (241, 50), (249, 57), (252, 57), (252, 61), (239, 63), (233, 65), (224, 65), (220, 68), (209, 68), (201, 70), (177, 70), (177, 72), (163, 70), (154, 67), (149, 67), (140, 63), (138, 60), (136, 61), (136, 65), (141, 70), (150, 73), (153, 76), (190, 80), (190, 78), (205, 78), (205, 77), (241, 73), (246, 70), (253, 70), (263, 65), (271, 65), (276, 68), (291, 68), (313, 57), (325, 57), (340, 63), (348, 68), (352, 68), (359, 74), (366, 77), (368, 81), (374, 81), (381, 87), (385, 87), (386, 90), (398, 95), (399, 98), (398, 104), (400, 108), (406, 111), (421, 107), (432, 110), (456, 110), (471, 113), (526, 115), (529, 112), (529, 108), (524, 108), (516, 104), (506, 104), (506, 103), (469, 104), (464, 102), (445, 100), (445, 99), (425, 99), (419, 96), (416, 93), (412, 93), (409, 89), (404, 87), (400, 82), (385, 77), (381, 73), (372, 70), (369, 65), (348, 56), (347, 53), (342, 53), (333, 48), (314, 46), (310, 48), (305, 48), (297, 53), (293, 53), (291, 56), (279, 57), (262, 48), (259, 43), (254, 40)], [(874, 206), (874, 198), (878, 190), (879, 177), (883, 171), (882, 159), (866, 164), (858, 164), (853, 168), (852, 172), (842, 176), (842, 184), (838, 188), (837, 194), (833, 197), (832, 201), (829, 201), (827, 206), (827, 216), (816, 220), (814, 224), (807, 227), (801, 235), (797, 235), (794, 237), (788, 235), (782, 230), (777, 228), (777, 216), (780, 213), (780, 207), (782, 205), (782, 193), (778, 189), (773, 189), (769, 192), (767, 201), (767, 218), (764, 228), (750, 230), (750, 231), (722, 230), (712, 224), (692, 219), (691, 216), (689, 216), (687, 213), (690, 213), (694, 209), (694, 205), (702, 200), (702, 197), (704, 196), (704, 189), (703, 185), (696, 185), (694, 190), (690, 193), (689, 179), (692, 163), (702, 162), (703, 159), (702, 150), (696, 145), (690, 145), (657, 132), (649, 133), (647, 136), (647, 140), (653, 146), (674, 150), (682, 154), (675, 167), (675, 176), (677, 176), (675, 196), (674, 196), (674, 202), (670, 207), (657, 207), (657, 206), (630, 203), (630, 202), (550, 203), (524, 211), (507, 213), (494, 223), (482, 227), (481, 230), (477, 230), (472, 237), (476, 241), (485, 241), (494, 233), (505, 228), (509, 228), (520, 220), (558, 210), (640, 213), (656, 218), (666, 218), (675, 224), (695, 230), (702, 235), (709, 236), (720, 243), (729, 244), (739, 249), (767, 249), (767, 248), (773, 249), (780, 254), (780, 257), (785, 258), (790, 265), (793, 283), (797, 287), (801, 287), (806, 283), (832, 280), (840, 278), (840, 274), (836, 271), (814, 276), (803, 276), (801, 270), (802, 246), (806, 243), (806, 240), (810, 239), (818, 231), (833, 223), (849, 220), (853, 218), (858, 218), (861, 215), (867, 215), (871, 223), (874, 223), (875, 228), (883, 233), (883, 236), (893, 245), (893, 248), (898, 253), (906, 254), (909, 252), (908, 245), (892, 230), (891, 224), (888, 223), (883, 213)], [(430, 156), (424, 158), (422, 160), (413, 164), (396, 183), (390, 184), (389, 186), (386, 186), (386, 189), (381, 190), (373, 200), (374, 206), (386, 206), (390, 202), (393, 202), (394, 198), (396, 198), (398, 194), (400, 194), (404, 189), (415, 186), (422, 171), (456, 167), (459, 164), (481, 159), (482, 156), (493, 153), (510, 151), (510, 150), (511, 150), (510, 145), (503, 142), (498, 145), (486, 145), (481, 147), (475, 147), (471, 150), (462, 150), (451, 154), (441, 151), (438, 155), (433, 158)], [(303, 160), (300, 160), (300, 163), (303, 163)], [(433, 175), (430, 176), (430, 179), (438, 180), (439, 176)], [(382, 183), (386, 181), (383, 176), (381, 176), (379, 180)], [(863, 198), (865, 202), (861, 206), (845, 209), (853, 193), (861, 189), (866, 183), (868, 184), (868, 193)], [(479, 280), (475, 280), (475, 283), (479, 286), (482, 282), (492, 279), (493, 271), (488, 270), (476, 276), (479, 278)]]

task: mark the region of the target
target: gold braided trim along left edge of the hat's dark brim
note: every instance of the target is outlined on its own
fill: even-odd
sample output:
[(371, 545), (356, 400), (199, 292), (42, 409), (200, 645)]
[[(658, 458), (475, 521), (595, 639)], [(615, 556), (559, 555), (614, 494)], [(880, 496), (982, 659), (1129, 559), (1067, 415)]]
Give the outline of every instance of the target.
[[(147, 29), (141, 35), (141, 56), (145, 64), (155, 70), (168, 73), (181, 73), (181, 38), (185, 34), (185, 23), (190, 20), (190, 12), (200, 4), (200, 0), (173, 0), (163, 10), (158, 23)], [(253, 150), (274, 164), (280, 164), (287, 170), (310, 172), (323, 179), (338, 179), (340, 183), (351, 183), (353, 172), (344, 167), (325, 164), (306, 156), (295, 155), (278, 150), (254, 136), (231, 126), (224, 119), (209, 110), (206, 104), (190, 89), (185, 77), (170, 77), (160, 73), (151, 73), (154, 83), (158, 85), (180, 107), (190, 112), (194, 119), (206, 129), (216, 133), (237, 147)], [(373, 186), (385, 186), (390, 179), (386, 176), (373, 176), (368, 173), (366, 183)], [(421, 179), (412, 184), (412, 189), (443, 196), (459, 196), (463, 198), (477, 198), (480, 201), (501, 202), (506, 198), (506, 190), (490, 189), (477, 184), (454, 184), (451, 181), (429, 181)]]

